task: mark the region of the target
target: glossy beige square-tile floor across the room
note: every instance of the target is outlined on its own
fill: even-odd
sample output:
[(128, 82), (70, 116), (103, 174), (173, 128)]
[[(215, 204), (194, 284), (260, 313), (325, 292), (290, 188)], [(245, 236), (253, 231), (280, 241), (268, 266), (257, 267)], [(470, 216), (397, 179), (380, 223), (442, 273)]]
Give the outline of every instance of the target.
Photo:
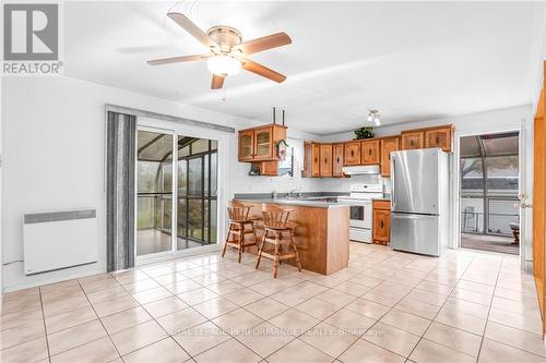
[(351, 244), (298, 273), (199, 255), (7, 293), (8, 362), (546, 362), (533, 279), (514, 256)]

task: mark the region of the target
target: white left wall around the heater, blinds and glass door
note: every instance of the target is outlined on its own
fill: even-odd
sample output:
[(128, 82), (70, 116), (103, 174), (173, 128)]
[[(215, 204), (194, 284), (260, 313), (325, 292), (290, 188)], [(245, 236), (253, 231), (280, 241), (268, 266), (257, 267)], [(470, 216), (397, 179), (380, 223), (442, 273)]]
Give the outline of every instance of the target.
[[(236, 129), (259, 123), (70, 77), (7, 77), (2, 92), (3, 287), (19, 289), (105, 270), (105, 104), (212, 122)], [(289, 131), (299, 140), (312, 135)], [(237, 138), (229, 136), (230, 160)], [(290, 142), (292, 143), (292, 142)], [(295, 141), (301, 157), (302, 142)], [(288, 191), (312, 181), (248, 177), (249, 165), (228, 168), (234, 192)], [(23, 215), (32, 211), (96, 208), (99, 263), (36, 276), (23, 273)]]

